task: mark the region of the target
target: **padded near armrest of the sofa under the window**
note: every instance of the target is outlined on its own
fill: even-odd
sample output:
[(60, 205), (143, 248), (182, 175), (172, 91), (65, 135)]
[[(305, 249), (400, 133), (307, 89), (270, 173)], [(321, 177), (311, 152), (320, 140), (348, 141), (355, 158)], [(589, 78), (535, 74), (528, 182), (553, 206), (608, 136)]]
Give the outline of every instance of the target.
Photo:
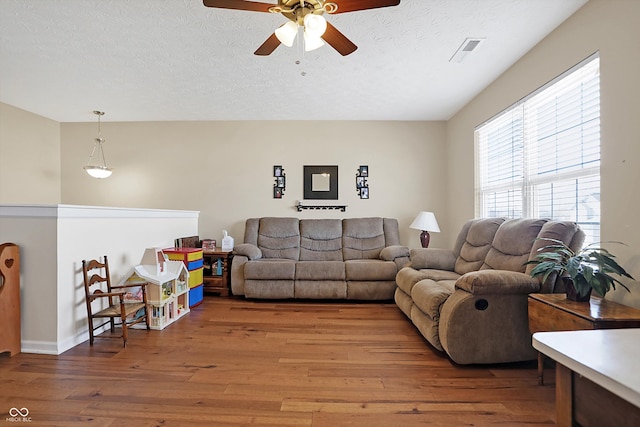
[(474, 295), (529, 294), (540, 290), (540, 280), (516, 271), (480, 270), (462, 275), (456, 288)]

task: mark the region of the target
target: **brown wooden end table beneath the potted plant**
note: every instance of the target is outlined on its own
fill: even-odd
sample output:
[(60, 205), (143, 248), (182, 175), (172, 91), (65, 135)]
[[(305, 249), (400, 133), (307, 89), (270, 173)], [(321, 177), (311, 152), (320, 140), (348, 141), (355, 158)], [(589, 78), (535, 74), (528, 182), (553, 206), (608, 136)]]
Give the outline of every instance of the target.
[[(591, 297), (591, 301), (575, 302), (565, 294), (529, 295), (529, 330), (577, 331), (582, 329), (639, 328), (640, 310)], [(544, 355), (538, 353), (538, 384), (544, 384)]]

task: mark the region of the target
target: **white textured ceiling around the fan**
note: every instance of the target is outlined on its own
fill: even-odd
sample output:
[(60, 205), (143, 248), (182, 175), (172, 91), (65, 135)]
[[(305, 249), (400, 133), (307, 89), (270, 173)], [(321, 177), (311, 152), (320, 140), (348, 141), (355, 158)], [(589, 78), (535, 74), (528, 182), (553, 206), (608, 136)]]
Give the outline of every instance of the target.
[[(358, 45), (349, 56), (294, 45), (258, 57), (282, 16), (201, 0), (0, 0), (0, 101), (59, 122), (96, 109), (104, 121), (446, 120), (586, 1), (402, 0), (325, 15)], [(485, 40), (449, 62), (468, 37)]]

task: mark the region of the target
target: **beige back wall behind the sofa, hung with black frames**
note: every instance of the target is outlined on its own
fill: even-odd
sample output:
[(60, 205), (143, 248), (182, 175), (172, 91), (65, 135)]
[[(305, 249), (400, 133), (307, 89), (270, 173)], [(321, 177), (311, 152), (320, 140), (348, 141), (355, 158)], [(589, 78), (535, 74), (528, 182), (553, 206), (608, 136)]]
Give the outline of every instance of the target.
[[(62, 200), (69, 204), (198, 210), (200, 236), (222, 230), (240, 243), (246, 218), (387, 216), (400, 221), (402, 242), (419, 246), (408, 228), (420, 210), (444, 220), (443, 122), (103, 122), (109, 179), (82, 170), (95, 123), (64, 123)], [(273, 166), (287, 179), (273, 198)], [(339, 211), (294, 209), (303, 198), (304, 165), (338, 165)], [(355, 173), (369, 165), (370, 199), (361, 200)], [(321, 204), (309, 201), (309, 204)], [(434, 245), (442, 237), (434, 235)]]

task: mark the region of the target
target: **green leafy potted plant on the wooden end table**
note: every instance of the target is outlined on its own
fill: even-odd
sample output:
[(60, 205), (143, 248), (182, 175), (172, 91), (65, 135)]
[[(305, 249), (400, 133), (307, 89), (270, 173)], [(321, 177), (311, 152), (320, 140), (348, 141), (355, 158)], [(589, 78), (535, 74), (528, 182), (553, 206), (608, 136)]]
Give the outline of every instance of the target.
[(541, 240), (547, 240), (550, 244), (538, 249), (540, 253), (526, 263), (536, 265), (531, 270), (531, 276), (542, 275), (543, 282), (553, 273), (562, 277), (568, 299), (589, 301), (592, 289), (604, 297), (611, 288), (616, 288), (616, 283), (630, 292), (629, 288), (613, 275), (635, 279), (615, 261), (615, 255), (600, 246), (600, 243), (587, 245), (574, 252), (561, 240)]

